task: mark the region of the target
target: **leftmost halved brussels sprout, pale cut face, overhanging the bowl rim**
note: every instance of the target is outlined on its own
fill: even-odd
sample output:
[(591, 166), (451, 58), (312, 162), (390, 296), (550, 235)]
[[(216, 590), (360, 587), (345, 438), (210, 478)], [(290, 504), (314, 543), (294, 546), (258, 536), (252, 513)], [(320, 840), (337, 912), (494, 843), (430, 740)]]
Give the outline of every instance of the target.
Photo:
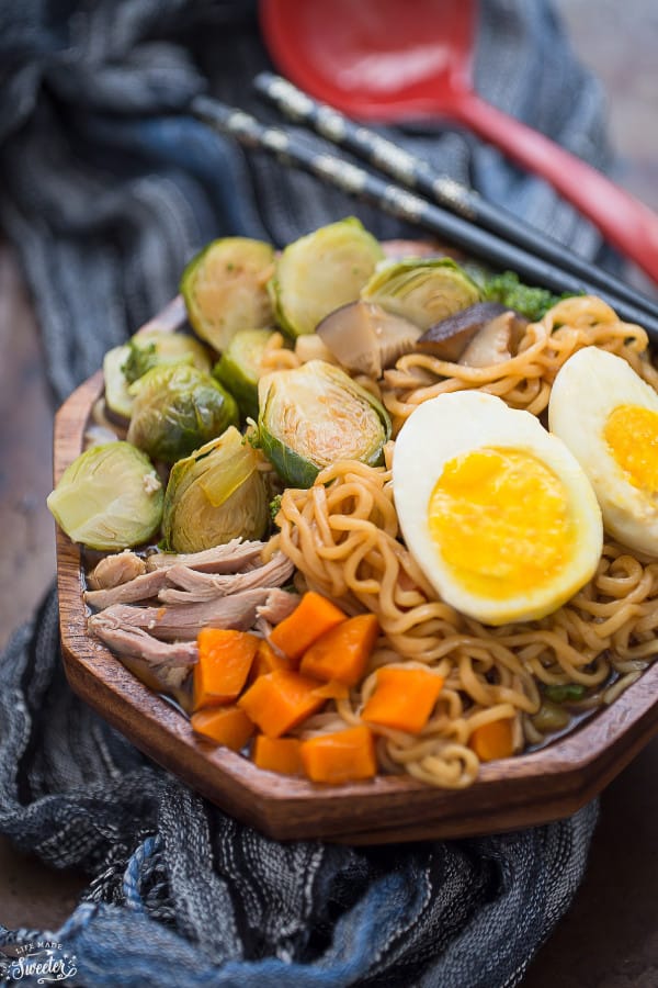
[(156, 535), (162, 502), (162, 483), (146, 453), (116, 441), (92, 446), (73, 460), (46, 504), (75, 542), (118, 550)]

